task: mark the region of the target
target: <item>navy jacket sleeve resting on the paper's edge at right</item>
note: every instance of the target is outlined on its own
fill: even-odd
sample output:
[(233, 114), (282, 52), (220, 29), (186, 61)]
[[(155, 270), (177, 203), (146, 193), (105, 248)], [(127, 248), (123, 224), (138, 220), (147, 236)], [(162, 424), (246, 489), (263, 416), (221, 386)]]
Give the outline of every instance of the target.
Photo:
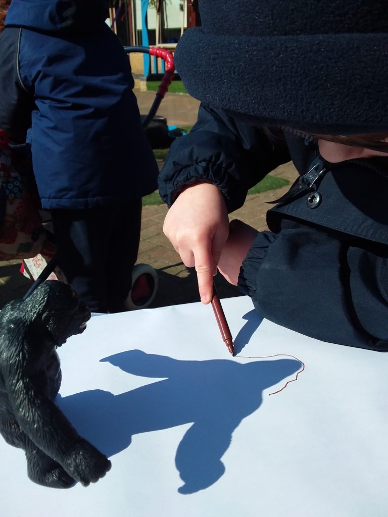
[(306, 336), (388, 349), (388, 257), (308, 227), (259, 233), (238, 286), (265, 318)]

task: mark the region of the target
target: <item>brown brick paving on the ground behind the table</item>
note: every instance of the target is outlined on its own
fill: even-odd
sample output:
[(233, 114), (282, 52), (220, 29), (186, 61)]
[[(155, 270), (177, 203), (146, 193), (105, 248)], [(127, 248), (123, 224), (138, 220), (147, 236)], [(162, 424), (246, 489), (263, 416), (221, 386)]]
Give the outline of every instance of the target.
[[(147, 113), (154, 99), (150, 92), (136, 92), (141, 113)], [(187, 95), (167, 94), (158, 114), (167, 117), (168, 124), (192, 125), (197, 116), (198, 101)], [(273, 175), (286, 178), (290, 183), (296, 177), (292, 164), (280, 166)], [(247, 197), (244, 206), (231, 219), (242, 221), (265, 230), (265, 214), (271, 205), (267, 201), (277, 199), (289, 186)], [(162, 233), (163, 220), (167, 213), (165, 205), (145, 206), (142, 215), (141, 242), (138, 263), (150, 264), (157, 271), (159, 287), (151, 308), (177, 305), (199, 300), (195, 271), (181, 262), (168, 239)], [(117, 257), (117, 267), (125, 267), (125, 258)], [(28, 290), (31, 282), (19, 272), (20, 261), (0, 262), (0, 308), (14, 298), (20, 298)], [(215, 279), (220, 298), (238, 296), (237, 288), (229, 285), (220, 275)]]

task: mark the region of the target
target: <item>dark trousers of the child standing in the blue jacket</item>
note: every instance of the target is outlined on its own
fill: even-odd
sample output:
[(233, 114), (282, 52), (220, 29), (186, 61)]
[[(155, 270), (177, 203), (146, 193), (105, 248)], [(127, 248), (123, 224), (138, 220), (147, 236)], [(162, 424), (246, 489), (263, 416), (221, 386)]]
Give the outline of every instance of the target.
[(121, 312), (140, 241), (141, 199), (52, 210), (58, 266), (92, 312)]

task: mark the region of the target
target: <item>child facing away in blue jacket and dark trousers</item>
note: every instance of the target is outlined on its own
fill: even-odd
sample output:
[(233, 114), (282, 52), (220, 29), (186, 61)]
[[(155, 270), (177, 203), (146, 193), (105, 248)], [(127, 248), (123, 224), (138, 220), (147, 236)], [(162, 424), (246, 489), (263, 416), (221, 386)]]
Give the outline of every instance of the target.
[(158, 174), (108, 5), (12, 0), (0, 36), (0, 128), (31, 145), (58, 266), (92, 312), (125, 310)]

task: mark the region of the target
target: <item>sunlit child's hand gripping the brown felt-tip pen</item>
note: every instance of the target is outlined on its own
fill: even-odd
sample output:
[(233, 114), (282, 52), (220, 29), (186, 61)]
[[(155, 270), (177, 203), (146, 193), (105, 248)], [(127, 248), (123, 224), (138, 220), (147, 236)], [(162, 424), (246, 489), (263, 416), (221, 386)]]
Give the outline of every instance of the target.
[(203, 303), (213, 295), (213, 276), (229, 233), (221, 191), (210, 183), (186, 188), (168, 211), (163, 232), (187, 267), (195, 266)]

